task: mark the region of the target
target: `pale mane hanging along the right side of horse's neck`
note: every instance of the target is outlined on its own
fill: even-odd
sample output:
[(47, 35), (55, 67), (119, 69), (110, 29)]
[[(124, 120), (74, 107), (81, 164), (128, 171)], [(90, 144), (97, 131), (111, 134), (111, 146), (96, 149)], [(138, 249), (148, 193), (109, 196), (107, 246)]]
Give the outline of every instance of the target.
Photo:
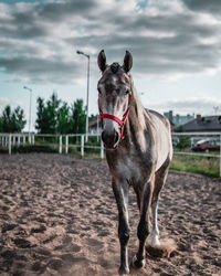
[(146, 120), (149, 117), (145, 107), (143, 106), (143, 104), (139, 100), (137, 91), (134, 86), (134, 82), (131, 78), (131, 75), (129, 75), (130, 78), (130, 89), (131, 89), (131, 95), (133, 95), (133, 102), (135, 105), (135, 113), (138, 119), (138, 127), (140, 128), (140, 130), (145, 130), (146, 129)]

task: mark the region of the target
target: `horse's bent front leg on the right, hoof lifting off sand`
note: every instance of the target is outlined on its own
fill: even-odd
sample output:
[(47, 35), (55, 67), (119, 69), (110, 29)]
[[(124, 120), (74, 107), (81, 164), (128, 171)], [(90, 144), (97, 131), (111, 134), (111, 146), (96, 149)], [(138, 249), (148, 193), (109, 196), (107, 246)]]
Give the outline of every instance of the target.
[(133, 258), (133, 265), (137, 268), (145, 266), (145, 243), (149, 235), (149, 209), (152, 194), (152, 182), (145, 184), (143, 193), (140, 194), (140, 220), (137, 229), (137, 236), (139, 240), (139, 247), (137, 254)]

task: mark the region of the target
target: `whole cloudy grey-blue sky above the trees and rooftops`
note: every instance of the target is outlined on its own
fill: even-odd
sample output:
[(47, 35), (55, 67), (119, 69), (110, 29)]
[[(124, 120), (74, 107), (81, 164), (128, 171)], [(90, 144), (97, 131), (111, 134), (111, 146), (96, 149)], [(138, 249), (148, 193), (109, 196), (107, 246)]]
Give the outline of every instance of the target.
[[(28, 118), (29, 91), (55, 91), (73, 103), (86, 98), (91, 55), (90, 113), (97, 113), (96, 57), (107, 63), (134, 57), (131, 75), (145, 107), (175, 114), (221, 113), (220, 0), (0, 1), (0, 110), (20, 105)], [(33, 129), (33, 126), (32, 126)]]

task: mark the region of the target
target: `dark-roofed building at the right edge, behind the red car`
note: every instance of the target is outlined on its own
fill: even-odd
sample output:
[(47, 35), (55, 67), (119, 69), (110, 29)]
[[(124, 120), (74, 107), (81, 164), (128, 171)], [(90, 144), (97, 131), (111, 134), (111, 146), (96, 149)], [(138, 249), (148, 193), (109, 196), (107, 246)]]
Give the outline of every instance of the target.
[(181, 127), (177, 127), (176, 130), (182, 130), (185, 132), (220, 132), (221, 131), (221, 115), (220, 116), (204, 116), (197, 115), (197, 117)]

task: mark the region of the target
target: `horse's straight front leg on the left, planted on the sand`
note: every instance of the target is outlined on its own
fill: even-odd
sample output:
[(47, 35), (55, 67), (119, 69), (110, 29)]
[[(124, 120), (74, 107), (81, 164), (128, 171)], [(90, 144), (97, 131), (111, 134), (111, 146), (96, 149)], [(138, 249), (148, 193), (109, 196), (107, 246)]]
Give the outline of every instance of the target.
[(119, 275), (129, 273), (127, 244), (129, 241), (129, 223), (128, 223), (128, 191), (127, 182), (117, 183), (113, 181), (113, 191), (118, 209), (118, 237), (120, 243), (120, 267)]

